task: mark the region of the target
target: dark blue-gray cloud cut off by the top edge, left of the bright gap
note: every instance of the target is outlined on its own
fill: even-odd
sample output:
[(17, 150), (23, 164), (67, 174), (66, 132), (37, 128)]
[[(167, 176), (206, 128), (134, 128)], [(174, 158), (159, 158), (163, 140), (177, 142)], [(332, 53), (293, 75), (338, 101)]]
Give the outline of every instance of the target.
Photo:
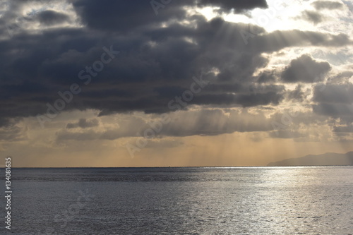
[(89, 28), (126, 31), (160, 23), (169, 18), (184, 18), (186, 12), (181, 6), (185, 2), (174, 1), (167, 9), (160, 9), (158, 17), (155, 16), (150, 1), (139, 1), (136, 4), (136, 2), (124, 0), (77, 0), (73, 1), (73, 7)]

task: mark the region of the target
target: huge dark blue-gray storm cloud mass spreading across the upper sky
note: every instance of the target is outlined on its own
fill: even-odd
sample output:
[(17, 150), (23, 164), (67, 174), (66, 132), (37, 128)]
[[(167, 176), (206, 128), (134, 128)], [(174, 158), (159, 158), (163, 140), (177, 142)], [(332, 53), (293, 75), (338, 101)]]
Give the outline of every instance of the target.
[[(257, 7), (259, 2), (251, 3)], [(230, 1), (219, 3), (233, 7)], [(1, 40), (0, 124), (11, 117), (45, 114), (46, 104), (53, 104), (60, 98), (58, 92), (69, 90), (72, 83), (78, 83), (82, 92), (74, 95), (64, 110), (98, 109), (101, 116), (115, 112), (174, 111), (169, 109), (168, 102), (190, 89), (193, 76), (200, 79), (201, 75), (212, 82), (188, 104), (276, 105), (283, 99), (285, 88), (265, 85), (273, 80), (270, 74), (268, 78), (253, 77), (269, 62), (263, 52), (352, 43), (344, 34), (300, 30), (267, 33), (254, 26), (261, 34), (254, 35), (246, 45), (240, 32), (249, 30), (249, 25), (227, 23), (220, 18), (207, 21), (200, 15), (187, 18), (183, 4), (191, 6), (189, 1), (172, 1), (155, 16), (150, 1), (73, 1), (85, 27), (52, 28), (40, 33), (24, 30), (11, 39)], [(179, 23), (186, 19), (192, 26)], [(165, 26), (161, 27), (161, 23)], [(4, 37), (6, 33), (1, 31)], [(111, 45), (120, 54), (85, 85), (78, 73), (85, 66), (92, 66), (101, 58), (103, 47)], [(300, 64), (309, 62), (313, 71), (301, 78), (292, 77), (292, 71), (285, 76), (286, 81), (312, 82), (309, 75), (328, 70), (325, 62), (297, 60), (287, 69), (302, 69), (304, 65)], [(261, 83), (253, 85), (256, 80)]]

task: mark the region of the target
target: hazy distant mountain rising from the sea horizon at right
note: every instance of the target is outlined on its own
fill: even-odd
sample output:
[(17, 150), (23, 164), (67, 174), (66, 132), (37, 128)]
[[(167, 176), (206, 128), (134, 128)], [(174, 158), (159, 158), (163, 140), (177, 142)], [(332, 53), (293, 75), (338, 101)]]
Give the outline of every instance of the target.
[(270, 162), (268, 167), (292, 166), (345, 166), (353, 165), (353, 152), (334, 153), (323, 155), (307, 155), (305, 157), (289, 158), (279, 162)]

